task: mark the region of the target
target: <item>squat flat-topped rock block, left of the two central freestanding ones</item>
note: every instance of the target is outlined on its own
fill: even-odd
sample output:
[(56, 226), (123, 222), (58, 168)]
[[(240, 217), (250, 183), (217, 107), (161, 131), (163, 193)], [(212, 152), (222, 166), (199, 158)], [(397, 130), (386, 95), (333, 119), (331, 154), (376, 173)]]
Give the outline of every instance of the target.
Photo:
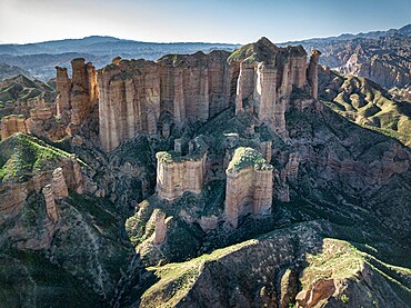
[(206, 176), (207, 149), (197, 142), (188, 156), (174, 151), (158, 152), (157, 192), (160, 198), (174, 200), (186, 191), (201, 193)]

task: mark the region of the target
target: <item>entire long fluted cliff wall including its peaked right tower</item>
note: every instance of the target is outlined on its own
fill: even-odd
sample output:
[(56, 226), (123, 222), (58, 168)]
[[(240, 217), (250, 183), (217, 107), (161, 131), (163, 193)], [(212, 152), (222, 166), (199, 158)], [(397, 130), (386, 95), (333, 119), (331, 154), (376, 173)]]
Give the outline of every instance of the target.
[(237, 113), (247, 111), (284, 136), (293, 89), (307, 87), (317, 98), (319, 54), (308, 68), (301, 46), (279, 48), (262, 38), (231, 54), (169, 54), (157, 62), (116, 58), (98, 74), (101, 146), (112, 151), (139, 133), (167, 139), (173, 125), (206, 121), (233, 105)]

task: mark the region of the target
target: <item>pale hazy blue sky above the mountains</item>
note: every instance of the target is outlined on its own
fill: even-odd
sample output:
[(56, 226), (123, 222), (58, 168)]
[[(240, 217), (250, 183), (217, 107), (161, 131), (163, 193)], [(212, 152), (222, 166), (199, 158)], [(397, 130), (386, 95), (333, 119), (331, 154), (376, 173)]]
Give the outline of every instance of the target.
[(0, 42), (273, 42), (400, 28), (411, 0), (0, 0)]

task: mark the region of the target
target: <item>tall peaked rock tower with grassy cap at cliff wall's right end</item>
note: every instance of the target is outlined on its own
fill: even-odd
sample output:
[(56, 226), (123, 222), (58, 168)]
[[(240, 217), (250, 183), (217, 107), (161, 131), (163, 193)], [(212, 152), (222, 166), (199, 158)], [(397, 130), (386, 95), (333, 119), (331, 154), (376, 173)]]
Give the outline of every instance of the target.
[(278, 48), (268, 39), (234, 51), (229, 63), (239, 63), (235, 112), (254, 115), (285, 135), (284, 113), (293, 88), (307, 85), (307, 53), (301, 46)]

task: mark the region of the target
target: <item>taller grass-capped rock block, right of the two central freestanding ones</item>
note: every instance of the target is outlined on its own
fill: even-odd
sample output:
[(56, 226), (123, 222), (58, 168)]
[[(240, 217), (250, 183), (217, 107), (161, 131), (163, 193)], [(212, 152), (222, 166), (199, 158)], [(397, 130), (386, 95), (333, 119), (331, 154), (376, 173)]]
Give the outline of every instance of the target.
[(224, 212), (232, 227), (237, 228), (242, 215), (271, 213), (272, 171), (272, 166), (257, 150), (235, 149), (225, 171)]

